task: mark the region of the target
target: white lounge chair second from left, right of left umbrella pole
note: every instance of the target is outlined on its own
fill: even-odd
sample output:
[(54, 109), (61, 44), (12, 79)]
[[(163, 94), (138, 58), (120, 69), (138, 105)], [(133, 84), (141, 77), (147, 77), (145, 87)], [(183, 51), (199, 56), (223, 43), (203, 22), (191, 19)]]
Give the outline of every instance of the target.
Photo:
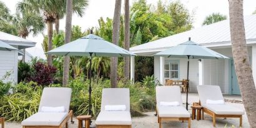
[[(125, 106), (122, 111), (106, 111), (105, 106)], [(97, 128), (131, 128), (129, 89), (103, 89), (101, 112), (96, 119)]]

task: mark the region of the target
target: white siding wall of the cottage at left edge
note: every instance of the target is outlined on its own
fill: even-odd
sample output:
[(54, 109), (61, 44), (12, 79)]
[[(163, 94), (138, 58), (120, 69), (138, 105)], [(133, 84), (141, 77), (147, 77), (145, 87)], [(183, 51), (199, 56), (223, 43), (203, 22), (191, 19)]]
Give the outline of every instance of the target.
[(0, 51), (0, 79), (6, 72), (11, 72), (11, 76), (4, 79), (4, 82), (17, 82), (17, 54), (17, 51)]

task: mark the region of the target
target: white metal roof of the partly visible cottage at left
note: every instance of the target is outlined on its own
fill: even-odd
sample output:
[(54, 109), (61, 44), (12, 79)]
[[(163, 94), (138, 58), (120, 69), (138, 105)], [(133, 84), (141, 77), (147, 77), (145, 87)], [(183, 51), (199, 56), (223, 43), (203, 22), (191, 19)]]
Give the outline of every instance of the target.
[(24, 49), (27, 47), (36, 46), (36, 42), (23, 39), (22, 37), (17, 37), (12, 34), (7, 34), (0, 31), (0, 41), (6, 42), (11, 46), (18, 46), (19, 49)]

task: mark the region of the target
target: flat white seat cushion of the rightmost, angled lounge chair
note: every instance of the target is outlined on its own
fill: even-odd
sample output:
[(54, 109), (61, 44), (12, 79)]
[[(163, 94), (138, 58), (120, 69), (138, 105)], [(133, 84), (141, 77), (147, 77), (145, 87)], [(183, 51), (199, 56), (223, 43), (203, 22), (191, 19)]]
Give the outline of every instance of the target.
[(244, 115), (244, 111), (228, 104), (206, 104), (203, 107), (219, 115)]

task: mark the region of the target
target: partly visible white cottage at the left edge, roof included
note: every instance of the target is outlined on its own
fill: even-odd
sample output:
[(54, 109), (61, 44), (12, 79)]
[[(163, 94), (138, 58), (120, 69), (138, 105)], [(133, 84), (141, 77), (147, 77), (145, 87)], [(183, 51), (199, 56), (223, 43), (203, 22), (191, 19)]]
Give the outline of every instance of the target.
[(36, 46), (36, 42), (13, 36), (5, 32), (0, 32), (0, 41), (6, 42), (19, 49), (18, 51), (0, 51), (0, 79), (6, 75), (6, 72), (10, 72), (11, 75), (8, 79), (4, 79), (4, 82), (11, 81), (16, 83), (18, 56), (24, 55), (22, 49)]

